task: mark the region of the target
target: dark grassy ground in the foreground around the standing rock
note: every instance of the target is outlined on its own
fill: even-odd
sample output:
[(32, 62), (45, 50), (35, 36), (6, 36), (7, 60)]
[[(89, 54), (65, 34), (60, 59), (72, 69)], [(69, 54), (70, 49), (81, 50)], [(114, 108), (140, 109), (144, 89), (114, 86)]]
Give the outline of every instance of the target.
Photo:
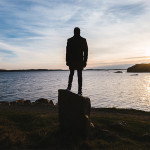
[(57, 108), (0, 106), (0, 149), (150, 150), (150, 113), (92, 109), (87, 139), (60, 134)]

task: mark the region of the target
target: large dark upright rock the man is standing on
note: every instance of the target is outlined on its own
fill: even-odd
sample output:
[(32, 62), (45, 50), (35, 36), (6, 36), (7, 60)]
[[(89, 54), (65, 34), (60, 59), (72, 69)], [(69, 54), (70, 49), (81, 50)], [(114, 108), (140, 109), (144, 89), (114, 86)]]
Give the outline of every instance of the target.
[(91, 103), (88, 97), (67, 90), (58, 90), (59, 122), (62, 132), (87, 136), (90, 127)]

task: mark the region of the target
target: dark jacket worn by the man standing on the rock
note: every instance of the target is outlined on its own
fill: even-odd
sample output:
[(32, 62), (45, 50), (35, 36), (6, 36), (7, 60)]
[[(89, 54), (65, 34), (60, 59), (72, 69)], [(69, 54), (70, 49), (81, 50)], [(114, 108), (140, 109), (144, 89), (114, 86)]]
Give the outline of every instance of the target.
[(73, 36), (68, 39), (66, 46), (66, 63), (86, 63), (88, 58), (88, 46), (86, 39), (81, 36)]

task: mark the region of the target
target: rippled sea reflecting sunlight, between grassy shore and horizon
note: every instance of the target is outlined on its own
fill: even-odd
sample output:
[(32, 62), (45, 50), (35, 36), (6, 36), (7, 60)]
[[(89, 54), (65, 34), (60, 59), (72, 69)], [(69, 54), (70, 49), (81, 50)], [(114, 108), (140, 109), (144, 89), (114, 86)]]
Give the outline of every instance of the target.
[[(83, 71), (83, 95), (92, 107), (133, 108), (150, 111), (150, 74)], [(0, 72), (0, 100), (38, 98), (57, 102), (58, 89), (67, 87), (69, 71)], [(72, 91), (77, 93), (77, 75)]]

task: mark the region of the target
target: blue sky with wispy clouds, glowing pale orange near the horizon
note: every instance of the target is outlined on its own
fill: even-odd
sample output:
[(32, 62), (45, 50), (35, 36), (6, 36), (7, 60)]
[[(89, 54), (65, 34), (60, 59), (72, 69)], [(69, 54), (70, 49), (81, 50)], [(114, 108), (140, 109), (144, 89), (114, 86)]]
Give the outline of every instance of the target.
[(148, 0), (0, 0), (0, 69), (67, 69), (74, 27), (87, 68), (150, 63)]

